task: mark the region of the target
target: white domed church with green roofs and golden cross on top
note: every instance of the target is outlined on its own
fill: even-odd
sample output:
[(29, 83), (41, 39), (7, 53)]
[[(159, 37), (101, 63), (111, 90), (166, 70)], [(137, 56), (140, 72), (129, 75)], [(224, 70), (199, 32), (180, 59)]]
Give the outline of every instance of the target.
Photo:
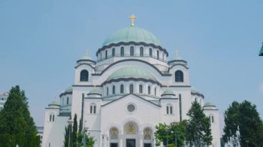
[(149, 31), (131, 26), (109, 35), (75, 65), (75, 81), (46, 107), (42, 146), (64, 146), (70, 116), (78, 115), (96, 147), (155, 146), (155, 126), (188, 119), (192, 101), (210, 117), (212, 146), (220, 146), (219, 112), (189, 82), (188, 62), (169, 53)]

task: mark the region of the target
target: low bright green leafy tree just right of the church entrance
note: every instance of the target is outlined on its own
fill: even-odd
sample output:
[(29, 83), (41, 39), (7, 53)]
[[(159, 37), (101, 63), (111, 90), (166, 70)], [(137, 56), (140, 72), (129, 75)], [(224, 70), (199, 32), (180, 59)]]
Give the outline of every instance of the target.
[(177, 138), (177, 146), (184, 146), (185, 126), (185, 121), (181, 121), (179, 124), (158, 124), (158, 126), (156, 126), (156, 132), (154, 133), (156, 146), (160, 146), (161, 141), (166, 146), (167, 139), (168, 146), (174, 147), (175, 138)]

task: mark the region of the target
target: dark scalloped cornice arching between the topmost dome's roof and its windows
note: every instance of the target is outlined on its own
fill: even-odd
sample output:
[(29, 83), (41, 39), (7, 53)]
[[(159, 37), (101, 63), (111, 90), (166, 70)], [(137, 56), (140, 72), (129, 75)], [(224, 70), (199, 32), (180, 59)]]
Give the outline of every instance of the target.
[(107, 46), (103, 46), (102, 48), (98, 49), (96, 52), (96, 56), (98, 56), (98, 53), (100, 53), (102, 50), (105, 50), (106, 48), (111, 48), (113, 46), (150, 46), (152, 48), (158, 48), (159, 50), (165, 52), (166, 57), (168, 57), (168, 52), (165, 50), (165, 48), (162, 48), (161, 46), (156, 46), (154, 43), (145, 43), (145, 42), (134, 42), (134, 41), (129, 41), (129, 42), (119, 42), (119, 43), (111, 43)]

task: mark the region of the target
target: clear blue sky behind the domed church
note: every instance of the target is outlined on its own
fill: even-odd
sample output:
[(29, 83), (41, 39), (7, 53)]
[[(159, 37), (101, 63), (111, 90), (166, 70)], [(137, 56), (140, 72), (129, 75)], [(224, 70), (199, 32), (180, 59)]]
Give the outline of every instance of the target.
[[(74, 66), (89, 50), (135, 25), (188, 61), (190, 84), (219, 108), (247, 99), (263, 116), (263, 1), (0, 1), (0, 92), (19, 85), (30, 112), (44, 108), (74, 81)], [(222, 120), (223, 121), (223, 120)]]

